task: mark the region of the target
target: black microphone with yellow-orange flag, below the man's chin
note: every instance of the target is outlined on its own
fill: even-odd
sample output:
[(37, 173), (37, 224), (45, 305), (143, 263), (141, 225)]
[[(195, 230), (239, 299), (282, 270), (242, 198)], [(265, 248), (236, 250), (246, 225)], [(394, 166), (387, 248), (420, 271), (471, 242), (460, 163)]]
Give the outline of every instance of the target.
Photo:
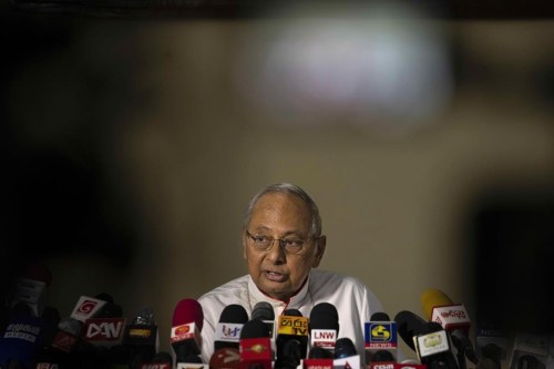
[(297, 309), (283, 311), (277, 322), (276, 346), (275, 366), (296, 369), (308, 351), (308, 318)]

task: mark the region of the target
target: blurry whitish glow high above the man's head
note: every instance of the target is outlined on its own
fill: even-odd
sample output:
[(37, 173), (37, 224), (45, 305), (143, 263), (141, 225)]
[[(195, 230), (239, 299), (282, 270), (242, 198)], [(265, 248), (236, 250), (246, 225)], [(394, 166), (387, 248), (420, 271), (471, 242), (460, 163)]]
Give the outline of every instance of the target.
[(420, 126), (453, 94), (444, 40), (407, 8), (274, 18), (245, 32), (236, 83), (284, 124)]

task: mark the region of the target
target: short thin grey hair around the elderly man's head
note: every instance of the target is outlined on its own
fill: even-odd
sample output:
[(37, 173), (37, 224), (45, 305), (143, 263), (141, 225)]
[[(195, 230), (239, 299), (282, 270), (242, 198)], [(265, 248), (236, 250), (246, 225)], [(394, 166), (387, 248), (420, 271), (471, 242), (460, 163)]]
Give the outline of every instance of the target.
[(252, 218), (252, 212), (254, 206), (256, 206), (259, 198), (269, 193), (281, 193), (281, 194), (290, 194), (299, 197), (306, 205), (308, 205), (311, 225), (310, 225), (310, 234), (309, 237), (319, 237), (321, 236), (321, 217), (319, 216), (319, 208), (317, 207), (316, 202), (300, 187), (293, 185), (290, 183), (276, 183), (269, 185), (258, 192), (248, 203), (248, 207), (246, 209), (246, 214), (243, 221), (243, 227), (246, 229), (248, 223)]

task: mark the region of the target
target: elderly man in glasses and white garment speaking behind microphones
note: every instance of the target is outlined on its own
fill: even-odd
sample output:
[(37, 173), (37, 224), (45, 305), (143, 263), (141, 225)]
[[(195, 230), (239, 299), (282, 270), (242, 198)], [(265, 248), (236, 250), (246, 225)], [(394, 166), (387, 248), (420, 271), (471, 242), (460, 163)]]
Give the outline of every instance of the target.
[(198, 298), (204, 311), (204, 362), (209, 362), (214, 352), (214, 331), (223, 309), (237, 304), (252, 316), (260, 301), (270, 304), (276, 317), (286, 309), (309, 317), (314, 306), (334, 305), (339, 316), (338, 338), (350, 338), (362, 355), (363, 324), (373, 312), (382, 311), (381, 303), (356, 278), (316, 269), (327, 239), (311, 197), (291, 184), (270, 185), (252, 198), (243, 227), (248, 274)]

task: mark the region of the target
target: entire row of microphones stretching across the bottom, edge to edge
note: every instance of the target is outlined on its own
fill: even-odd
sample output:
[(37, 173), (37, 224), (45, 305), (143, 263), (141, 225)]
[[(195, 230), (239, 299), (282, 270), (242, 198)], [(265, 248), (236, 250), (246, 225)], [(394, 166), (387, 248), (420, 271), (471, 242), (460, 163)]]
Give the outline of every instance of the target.
[[(339, 312), (329, 303), (316, 304), (309, 316), (286, 309), (277, 317), (268, 303), (256, 304), (250, 314), (228, 305), (206, 360), (204, 314), (195, 299), (176, 304), (170, 351), (162, 351), (152, 309), (127, 321), (109, 294), (99, 294), (81, 296), (61, 318), (44, 304), (49, 284), (44, 269), (17, 280), (1, 315), (0, 369), (552, 369), (554, 361), (554, 339), (546, 336), (509, 339), (495, 327), (478, 325), (474, 346), (465, 307), (437, 289), (421, 296), (424, 317), (373, 312), (360, 327), (361, 352), (341, 335)], [(417, 359), (402, 358), (398, 337)]]

